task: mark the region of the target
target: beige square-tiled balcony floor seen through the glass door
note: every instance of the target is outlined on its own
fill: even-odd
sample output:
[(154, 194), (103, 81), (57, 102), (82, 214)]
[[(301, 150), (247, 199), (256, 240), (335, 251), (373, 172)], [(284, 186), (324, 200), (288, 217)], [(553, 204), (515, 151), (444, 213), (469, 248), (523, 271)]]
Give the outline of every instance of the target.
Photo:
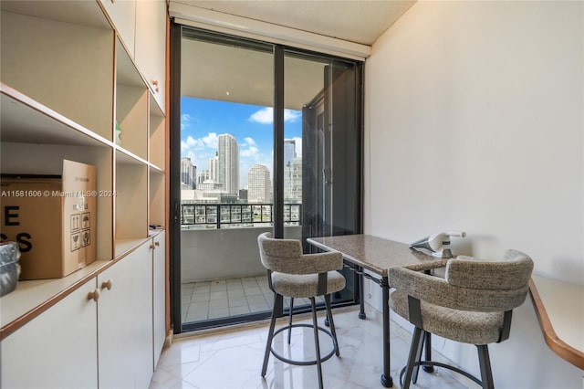
[[(266, 275), (183, 283), (181, 297), (183, 322), (262, 312), (274, 304)], [(295, 306), (309, 303), (308, 299), (295, 301)], [(285, 299), (285, 308), (288, 304)]]

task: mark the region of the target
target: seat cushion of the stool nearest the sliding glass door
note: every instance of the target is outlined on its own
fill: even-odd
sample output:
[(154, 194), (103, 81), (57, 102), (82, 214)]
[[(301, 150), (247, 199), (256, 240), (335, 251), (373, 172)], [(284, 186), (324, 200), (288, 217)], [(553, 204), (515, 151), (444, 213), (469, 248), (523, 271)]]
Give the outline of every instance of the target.
[[(345, 288), (345, 278), (338, 271), (328, 271), (327, 290), (330, 294)], [(309, 298), (318, 296), (318, 274), (287, 274), (272, 272), (272, 289), (282, 296)]]

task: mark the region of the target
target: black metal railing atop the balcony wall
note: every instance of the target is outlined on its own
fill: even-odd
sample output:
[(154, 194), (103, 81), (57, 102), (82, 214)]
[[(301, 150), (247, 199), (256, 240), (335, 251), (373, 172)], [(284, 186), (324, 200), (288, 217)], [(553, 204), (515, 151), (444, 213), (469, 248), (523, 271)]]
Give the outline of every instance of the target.
[[(233, 228), (272, 223), (272, 204), (182, 204), (183, 228)], [(284, 205), (284, 223), (301, 226), (302, 205)]]

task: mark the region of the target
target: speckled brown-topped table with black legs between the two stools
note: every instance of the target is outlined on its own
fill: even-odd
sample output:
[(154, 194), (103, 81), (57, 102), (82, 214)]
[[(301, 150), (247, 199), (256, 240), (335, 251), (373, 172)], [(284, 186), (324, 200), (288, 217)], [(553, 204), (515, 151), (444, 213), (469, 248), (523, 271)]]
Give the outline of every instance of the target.
[(393, 379), (390, 373), (390, 284), (388, 282), (388, 269), (417, 264), (423, 264), (424, 268), (428, 268), (428, 264), (435, 265), (435, 268), (441, 268), (447, 259), (430, 257), (412, 250), (406, 244), (369, 235), (312, 237), (308, 238), (307, 242), (325, 251), (339, 251), (347, 262), (357, 267), (361, 286), (360, 318), (365, 317), (362, 299), (363, 277), (371, 279), (381, 286), (383, 300), (383, 374), (381, 375), (381, 384), (385, 387), (391, 387)]

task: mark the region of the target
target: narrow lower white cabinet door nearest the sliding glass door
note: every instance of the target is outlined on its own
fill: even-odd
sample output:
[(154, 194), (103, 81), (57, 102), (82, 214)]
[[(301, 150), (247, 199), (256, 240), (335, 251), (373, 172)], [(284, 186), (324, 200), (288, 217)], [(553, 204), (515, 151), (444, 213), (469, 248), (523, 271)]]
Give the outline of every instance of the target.
[(152, 253), (152, 302), (153, 302), (153, 326), (154, 326), (154, 368), (158, 364), (161, 356), (162, 346), (166, 337), (165, 330), (165, 302), (166, 302), (166, 282), (165, 282), (165, 245), (164, 231), (153, 238), (154, 252)]

